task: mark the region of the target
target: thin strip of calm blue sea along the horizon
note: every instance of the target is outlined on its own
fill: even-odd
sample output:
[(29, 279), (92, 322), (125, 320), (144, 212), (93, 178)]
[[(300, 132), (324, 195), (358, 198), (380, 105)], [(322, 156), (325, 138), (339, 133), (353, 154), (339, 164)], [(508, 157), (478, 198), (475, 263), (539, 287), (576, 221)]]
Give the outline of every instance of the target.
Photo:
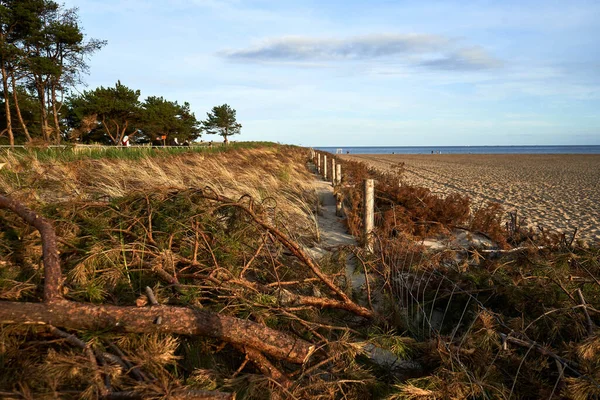
[(343, 154), (600, 154), (600, 146), (389, 146), (389, 147), (315, 147)]

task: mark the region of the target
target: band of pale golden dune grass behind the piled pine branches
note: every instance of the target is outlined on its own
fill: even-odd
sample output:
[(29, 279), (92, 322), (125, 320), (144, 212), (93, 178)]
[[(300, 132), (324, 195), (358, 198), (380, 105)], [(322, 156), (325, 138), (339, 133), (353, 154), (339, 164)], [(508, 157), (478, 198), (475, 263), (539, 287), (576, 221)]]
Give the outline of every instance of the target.
[[(211, 188), (230, 197), (249, 196), (277, 208), (294, 223), (290, 231), (316, 234), (310, 210), (316, 200), (298, 149), (265, 147), (217, 154), (40, 161), (35, 154), (8, 154), (0, 191), (28, 204), (106, 201), (132, 192)], [(291, 167), (294, 166), (294, 167)], [(33, 202), (33, 203), (32, 203)], [(308, 213), (307, 213), (308, 211)]]

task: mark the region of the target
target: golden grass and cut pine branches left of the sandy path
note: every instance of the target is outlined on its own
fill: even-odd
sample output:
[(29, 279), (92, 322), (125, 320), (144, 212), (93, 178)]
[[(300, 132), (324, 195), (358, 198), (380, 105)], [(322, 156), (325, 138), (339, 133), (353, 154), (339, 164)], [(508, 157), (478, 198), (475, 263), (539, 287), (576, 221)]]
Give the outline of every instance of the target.
[[(292, 382), (287, 387), (263, 375), (243, 349), (213, 339), (69, 332), (95, 351), (120, 349), (123, 359), (146, 374), (140, 381), (114, 364), (104, 371), (42, 327), (3, 329), (0, 393), (99, 398), (105, 389), (99, 371), (114, 390), (143, 398), (168, 398), (184, 389), (235, 391), (246, 399), (385, 392), (379, 387), (390, 378), (378, 380), (362, 354), (362, 343), (369, 340), (364, 320), (337, 309), (290, 304), (281, 293), (317, 301), (335, 296), (248, 213), (228, 201), (210, 200), (213, 192), (239, 199), (237, 205), (308, 245), (316, 238), (317, 199), (305, 162), (303, 150), (283, 146), (135, 162), (8, 157), (0, 187), (53, 221), (67, 299), (143, 307), (148, 286), (160, 304), (263, 324), (314, 343), (320, 355), (304, 366), (271, 359)], [(0, 211), (0, 217), (10, 233), (0, 238), (0, 297), (38, 302), (39, 237), (14, 215)], [(323, 270), (346, 290), (339, 273), (344, 262), (345, 257), (331, 257)], [(381, 346), (412, 354), (409, 344), (388, 336)]]

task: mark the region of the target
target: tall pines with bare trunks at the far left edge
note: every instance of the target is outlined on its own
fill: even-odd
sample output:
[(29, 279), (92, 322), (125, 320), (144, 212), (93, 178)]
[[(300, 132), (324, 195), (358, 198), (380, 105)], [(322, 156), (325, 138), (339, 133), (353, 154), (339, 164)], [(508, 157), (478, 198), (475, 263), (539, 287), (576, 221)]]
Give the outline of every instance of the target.
[[(46, 142), (64, 137), (63, 97), (81, 83), (86, 59), (106, 44), (86, 40), (77, 9), (50, 0), (0, 0), (0, 70), (5, 125), (10, 144), (18, 120), (27, 141), (39, 136)], [(23, 98), (37, 102), (37, 120), (21, 113)], [(13, 118), (14, 117), (14, 118)], [(30, 128), (36, 126), (39, 131)]]

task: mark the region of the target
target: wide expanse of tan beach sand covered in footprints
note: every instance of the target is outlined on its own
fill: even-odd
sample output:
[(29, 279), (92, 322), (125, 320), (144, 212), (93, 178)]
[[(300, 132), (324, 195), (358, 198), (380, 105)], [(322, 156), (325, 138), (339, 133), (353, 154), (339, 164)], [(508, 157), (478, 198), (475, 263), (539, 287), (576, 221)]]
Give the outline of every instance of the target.
[(405, 163), (404, 181), (435, 193), (468, 194), (517, 210), (534, 227), (600, 242), (600, 155), (353, 154), (342, 159), (388, 169)]

